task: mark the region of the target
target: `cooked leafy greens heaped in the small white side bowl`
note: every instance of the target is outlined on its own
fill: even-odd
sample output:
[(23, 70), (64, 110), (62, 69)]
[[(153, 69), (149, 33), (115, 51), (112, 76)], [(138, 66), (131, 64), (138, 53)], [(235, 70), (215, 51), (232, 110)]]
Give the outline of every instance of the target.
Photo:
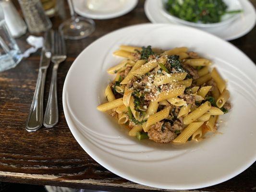
[(225, 13), (239, 13), (241, 10), (227, 11), (223, 0), (168, 0), (166, 10), (176, 17), (194, 23), (218, 23)]

